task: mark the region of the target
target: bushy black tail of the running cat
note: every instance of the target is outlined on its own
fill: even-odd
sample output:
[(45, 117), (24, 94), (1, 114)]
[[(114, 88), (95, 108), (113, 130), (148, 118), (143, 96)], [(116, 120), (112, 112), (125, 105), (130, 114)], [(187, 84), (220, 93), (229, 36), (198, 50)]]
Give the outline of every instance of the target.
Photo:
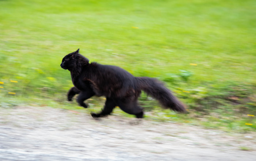
[(140, 89), (157, 99), (164, 108), (170, 108), (178, 112), (187, 112), (177, 97), (157, 79), (148, 77), (136, 77), (136, 79)]

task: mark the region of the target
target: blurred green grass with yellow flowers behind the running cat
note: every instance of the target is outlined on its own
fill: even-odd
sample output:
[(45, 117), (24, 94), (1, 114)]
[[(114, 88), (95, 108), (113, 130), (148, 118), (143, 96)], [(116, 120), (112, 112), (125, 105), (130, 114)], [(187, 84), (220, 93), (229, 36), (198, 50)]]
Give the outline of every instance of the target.
[[(254, 0), (0, 0), (0, 106), (81, 109), (67, 103), (72, 82), (60, 68), (80, 48), (90, 61), (165, 81), (188, 106), (179, 115), (143, 94), (146, 118), (256, 130), (247, 115), (256, 112), (255, 8)], [(104, 100), (87, 102), (98, 111)]]

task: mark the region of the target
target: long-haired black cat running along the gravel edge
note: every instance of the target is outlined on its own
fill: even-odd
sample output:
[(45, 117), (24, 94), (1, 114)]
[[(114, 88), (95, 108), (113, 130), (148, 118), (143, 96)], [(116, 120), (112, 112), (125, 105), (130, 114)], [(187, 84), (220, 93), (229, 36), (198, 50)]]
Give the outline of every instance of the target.
[(134, 77), (117, 66), (89, 63), (79, 54), (79, 49), (66, 55), (60, 66), (70, 71), (75, 86), (68, 92), (68, 101), (79, 94), (77, 102), (87, 108), (84, 100), (92, 96), (106, 97), (104, 108), (98, 114), (92, 113), (93, 117), (109, 115), (113, 108), (119, 106), (124, 112), (143, 118), (143, 108), (137, 103), (141, 90), (157, 99), (164, 108), (186, 112), (182, 103), (157, 79)]

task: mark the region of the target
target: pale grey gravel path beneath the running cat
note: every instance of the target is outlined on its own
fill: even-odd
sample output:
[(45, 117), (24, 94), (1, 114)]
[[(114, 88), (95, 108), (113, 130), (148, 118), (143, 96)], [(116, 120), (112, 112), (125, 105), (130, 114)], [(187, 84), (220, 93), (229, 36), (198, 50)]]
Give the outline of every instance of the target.
[(255, 161), (255, 158), (256, 133), (225, 133), (121, 116), (95, 120), (87, 113), (54, 108), (0, 108), (0, 161)]

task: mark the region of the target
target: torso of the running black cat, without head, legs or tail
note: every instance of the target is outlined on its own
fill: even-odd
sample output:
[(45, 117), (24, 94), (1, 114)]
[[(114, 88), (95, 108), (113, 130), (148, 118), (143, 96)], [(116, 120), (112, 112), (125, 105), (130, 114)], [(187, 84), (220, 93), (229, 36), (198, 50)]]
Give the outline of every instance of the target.
[(71, 78), (77, 89), (86, 91), (86, 88), (91, 87), (96, 96), (124, 97), (126, 92), (131, 90), (129, 88), (136, 88), (133, 83), (134, 77), (126, 70), (95, 62), (83, 67), (79, 76), (71, 75)]

